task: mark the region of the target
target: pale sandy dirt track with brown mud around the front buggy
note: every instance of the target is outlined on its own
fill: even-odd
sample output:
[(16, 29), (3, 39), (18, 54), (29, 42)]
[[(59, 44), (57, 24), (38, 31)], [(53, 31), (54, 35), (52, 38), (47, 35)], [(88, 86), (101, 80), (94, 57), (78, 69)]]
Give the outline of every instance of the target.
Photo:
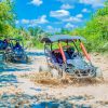
[[(31, 57), (32, 64), (15, 65), (18, 69), (24, 68), (23, 70), (1, 73), (1, 96), (4, 93), (14, 95), (26, 94), (29, 97), (36, 96), (37, 103), (57, 100), (56, 103), (58, 104), (64, 102), (68, 106), (70, 105), (70, 107), (64, 105), (64, 107), (55, 108), (71, 108), (71, 106), (75, 106), (75, 108), (108, 108), (108, 54), (91, 54), (93, 64), (100, 67), (103, 71), (104, 81), (85, 80), (76, 84), (69, 83), (67, 80), (63, 80), (63, 83), (59, 83), (59, 79), (49, 79), (49, 75), (46, 75), (46, 78), (44, 77), (46, 80), (43, 82), (37, 82), (36, 79), (42, 77), (42, 75), (37, 75), (38, 68), (40, 65), (45, 64), (45, 59), (43, 55), (37, 56), (37, 54)], [(36, 104), (36, 97), (29, 99), (29, 105)], [(24, 96), (24, 98), (26, 97)]]

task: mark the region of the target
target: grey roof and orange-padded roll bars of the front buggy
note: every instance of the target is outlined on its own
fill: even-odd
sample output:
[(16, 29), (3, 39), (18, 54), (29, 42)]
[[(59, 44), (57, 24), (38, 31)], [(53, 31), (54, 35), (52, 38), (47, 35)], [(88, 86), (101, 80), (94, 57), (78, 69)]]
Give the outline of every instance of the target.
[(67, 36), (67, 35), (56, 35), (56, 36), (53, 36), (52, 38), (43, 38), (41, 40), (41, 42), (44, 42), (44, 48), (46, 48), (48, 45), (50, 46), (50, 51), (53, 52), (53, 43), (57, 42), (57, 45), (58, 45), (58, 50), (59, 50), (59, 53), (62, 54), (62, 58), (63, 58), (63, 62), (66, 63), (66, 55), (65, 55), (65, 52), (64, 52), (64, 48), (62, 45), (62, 42), (65, 42), (67, 44), (67, 46), (69, 45), (69, 43), (71, 42), (73, 44), (73, 46), (76, 48), (78, 54), (81, 55), (76, 42), (79, 41), (80, 43), (80, 48), (83, 52), (83, 54), (85, 55), (86, 59), (91, 63), (91, 58), (85, 50), (85, 46), (84, 44), (82, 43), (82, 40), (85, 41), (84, 38), (82, 37), (79, 37), (79, 36)]

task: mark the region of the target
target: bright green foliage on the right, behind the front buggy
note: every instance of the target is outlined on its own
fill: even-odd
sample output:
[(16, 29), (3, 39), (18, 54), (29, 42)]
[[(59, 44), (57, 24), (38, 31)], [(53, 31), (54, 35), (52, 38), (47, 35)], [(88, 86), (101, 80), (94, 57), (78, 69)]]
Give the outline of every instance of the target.
[(84, 28), (71, 32), (86, 38), (89, 51), (108, 51), (108, 3), (99, 9)]

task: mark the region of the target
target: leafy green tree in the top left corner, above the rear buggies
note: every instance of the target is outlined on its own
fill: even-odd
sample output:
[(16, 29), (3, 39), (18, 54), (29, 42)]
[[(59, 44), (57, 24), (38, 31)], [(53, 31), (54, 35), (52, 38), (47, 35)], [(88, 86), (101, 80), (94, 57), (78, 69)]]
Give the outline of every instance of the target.
[(14, 35), (14, 17), (12, 1), (2, 0), (0, 2), (0, 37)]

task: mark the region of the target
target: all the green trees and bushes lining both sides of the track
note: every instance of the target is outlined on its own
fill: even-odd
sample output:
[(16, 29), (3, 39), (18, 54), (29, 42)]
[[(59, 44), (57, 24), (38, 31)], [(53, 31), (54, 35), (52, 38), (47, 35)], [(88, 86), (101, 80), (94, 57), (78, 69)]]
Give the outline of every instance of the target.
[[(15, 18), (14, 2), (2, 0), (0, 2), (0, 38), (21, 38), (28, 48), (43, 48), (40, 40), (43, 37), (51, 37), (51, 35), (40, 27), (16, 28)], [(97, 10), (85, 27), (72, 31), (62, 28), (60, 32), (55, 32), (55, 35), (59, 33), (85, 37), (89, 51), (108, 51), (108, 0), (103, 9)]]

